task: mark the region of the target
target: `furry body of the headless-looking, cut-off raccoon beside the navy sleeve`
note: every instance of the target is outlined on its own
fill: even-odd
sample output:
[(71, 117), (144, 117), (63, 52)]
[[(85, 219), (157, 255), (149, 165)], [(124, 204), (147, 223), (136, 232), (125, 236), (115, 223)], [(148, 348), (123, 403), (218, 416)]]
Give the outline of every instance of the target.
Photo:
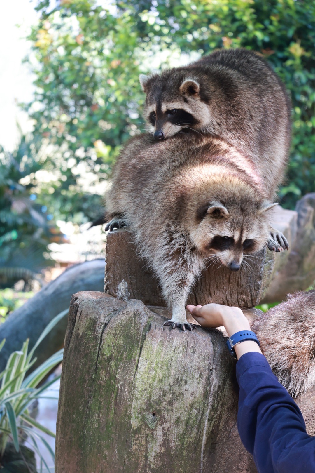
[(315, 385), (315, 290), (289, 294), (252, 329), (272, 371), (291, 395)]

